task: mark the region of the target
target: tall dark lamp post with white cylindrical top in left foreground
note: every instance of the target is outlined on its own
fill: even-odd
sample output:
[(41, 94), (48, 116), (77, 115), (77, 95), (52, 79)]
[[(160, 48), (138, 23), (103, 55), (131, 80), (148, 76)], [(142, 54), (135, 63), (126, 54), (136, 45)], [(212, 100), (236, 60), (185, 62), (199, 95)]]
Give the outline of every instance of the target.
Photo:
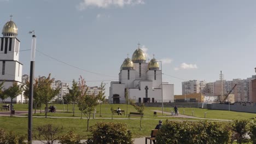
[(36, 57), (36, 42), (37, 38), (34, 31), (31, 31), (32, 46), (31, 46), (31, 62), (30, 62), (30, 97), (28, 101), (28, 138), (27, 141), (32, 143), (32, 111), (33, 111), (33, 84), (34, 84), (34, 61)]

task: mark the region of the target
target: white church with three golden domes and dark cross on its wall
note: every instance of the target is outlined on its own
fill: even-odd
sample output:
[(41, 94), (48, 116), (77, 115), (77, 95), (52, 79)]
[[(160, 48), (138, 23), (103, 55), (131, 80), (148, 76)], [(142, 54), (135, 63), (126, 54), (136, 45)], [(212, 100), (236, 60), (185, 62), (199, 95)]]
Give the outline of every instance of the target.
[(146, 55), (139, 48), (127, 57), (120, 68), (119, 81), (110, 82), (109, 103), (126, 103), (125, 92), (136, 103), (167, 103), (173, 101), (173, 84), (162, 82), (159, 62), (153, 58), (146, 63)]

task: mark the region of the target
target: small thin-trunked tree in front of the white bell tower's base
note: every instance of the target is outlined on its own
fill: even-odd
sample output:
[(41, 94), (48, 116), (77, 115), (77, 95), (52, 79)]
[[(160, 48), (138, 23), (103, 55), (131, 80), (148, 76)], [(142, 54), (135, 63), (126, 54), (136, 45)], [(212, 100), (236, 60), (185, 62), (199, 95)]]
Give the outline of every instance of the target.
[(23, 92), (23, 85), (18, 85), (18, 83), (16, 82), (13, 83), (13, 86), (5, 90), (4, 93), (7, 94), (11, 99), (11, 104), (10, 104), (11, 110), (13, 106), (13, 99), (16, 98), (18, 95), (22, 94), (22, 92)]

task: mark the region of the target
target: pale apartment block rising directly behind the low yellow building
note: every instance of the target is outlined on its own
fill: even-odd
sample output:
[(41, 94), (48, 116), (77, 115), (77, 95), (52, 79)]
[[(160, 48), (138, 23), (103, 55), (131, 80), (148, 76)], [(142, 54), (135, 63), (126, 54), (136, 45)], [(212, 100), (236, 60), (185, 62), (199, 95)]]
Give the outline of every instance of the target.
[(182, 94), (191, 94), (191, 93), (204, 93), (206, 92), (206, 82), (190, 80), (182, 82)]

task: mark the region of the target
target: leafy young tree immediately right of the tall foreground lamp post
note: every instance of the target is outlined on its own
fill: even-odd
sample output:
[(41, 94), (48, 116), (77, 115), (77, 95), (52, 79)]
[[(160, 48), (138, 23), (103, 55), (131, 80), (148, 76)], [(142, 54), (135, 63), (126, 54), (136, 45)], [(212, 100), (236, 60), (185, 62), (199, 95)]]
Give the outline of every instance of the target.
[(48, 77), (39, 77), (38, 79), (38, 91), (37, 94), (39, 98), (42, 100), (42, 103), (45, 104), (45, 118), (47, 118), (48, 113), (48, 103), (51, 99), (53, 99), (57, 94), (60, 93), (60, 88), (56, 89), (51, 88), (51, 83), (54, 82), (54, 79), (51, 79), (51, 74)]

